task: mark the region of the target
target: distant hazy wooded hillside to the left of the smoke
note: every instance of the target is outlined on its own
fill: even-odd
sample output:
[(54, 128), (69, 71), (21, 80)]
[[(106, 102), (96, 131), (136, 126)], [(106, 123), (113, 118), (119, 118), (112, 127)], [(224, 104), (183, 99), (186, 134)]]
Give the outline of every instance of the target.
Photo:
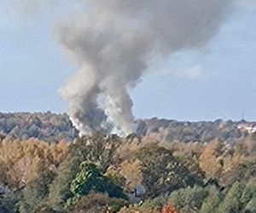
[(19, 140), (73, 141), (79, 132), (67, 114), (20, 112), (0, 113), (0, 134)]

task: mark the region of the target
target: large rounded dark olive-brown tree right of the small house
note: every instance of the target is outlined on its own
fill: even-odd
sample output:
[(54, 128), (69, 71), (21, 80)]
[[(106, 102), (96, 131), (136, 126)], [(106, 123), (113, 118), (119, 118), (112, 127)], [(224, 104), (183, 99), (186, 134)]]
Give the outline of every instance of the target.
[(149, 144), (137, 152), (143, 172), (143, 186), (147, 197), (155, 198), (161, 194), (186, 186), (194, 186), (197, 180), (189, 169), (172, 155), (170, 150)]

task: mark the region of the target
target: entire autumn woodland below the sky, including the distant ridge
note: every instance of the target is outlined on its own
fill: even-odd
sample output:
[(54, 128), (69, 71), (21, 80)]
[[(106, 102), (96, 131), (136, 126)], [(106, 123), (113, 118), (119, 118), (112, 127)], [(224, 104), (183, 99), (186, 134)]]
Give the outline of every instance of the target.
[(256, 212), (256, 134), (236, 123), (154, 118), (138, 135), (78, 137), (51, 115), (0, 115), (1, 213)]

